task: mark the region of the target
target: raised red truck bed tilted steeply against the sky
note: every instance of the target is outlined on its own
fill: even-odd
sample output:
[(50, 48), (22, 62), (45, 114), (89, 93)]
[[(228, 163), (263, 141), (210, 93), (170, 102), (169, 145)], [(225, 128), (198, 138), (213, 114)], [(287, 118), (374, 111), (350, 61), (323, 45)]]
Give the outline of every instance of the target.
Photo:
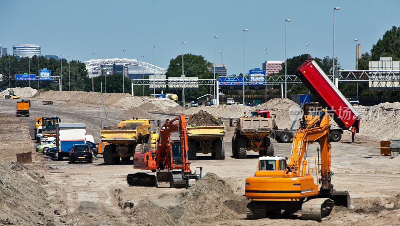
[(358, 133), (359, 114), (313, 58), (307, 59), (294, 73), (314, 94), (319, 103), (329, 110), (340, 128), (350, 130), (351, 127), (355, 127)]

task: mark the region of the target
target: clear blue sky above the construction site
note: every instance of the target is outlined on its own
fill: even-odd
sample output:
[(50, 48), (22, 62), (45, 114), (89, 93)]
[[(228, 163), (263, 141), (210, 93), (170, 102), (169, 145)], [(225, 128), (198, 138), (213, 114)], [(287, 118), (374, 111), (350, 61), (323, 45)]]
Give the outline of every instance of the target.
[(122, 57), (167, 68), (169, 60), (185, 53), (201, 54), (223, 63), (228, 74), (261, 67), (268, 60), (284, 60), (284, 20), (287, 24), (287, 57), (307, 52), (332, 56), (332, 15), (335, 12), (335, 56), (344, 69), (355, 67), (355, 42), (362, 52), (390, 29), (400, 25), (396, 0), (0, 0), (0, 45), (12, 54), (12, 45), (33, 43), (42, 55), (70, 55), (85, 61)]

